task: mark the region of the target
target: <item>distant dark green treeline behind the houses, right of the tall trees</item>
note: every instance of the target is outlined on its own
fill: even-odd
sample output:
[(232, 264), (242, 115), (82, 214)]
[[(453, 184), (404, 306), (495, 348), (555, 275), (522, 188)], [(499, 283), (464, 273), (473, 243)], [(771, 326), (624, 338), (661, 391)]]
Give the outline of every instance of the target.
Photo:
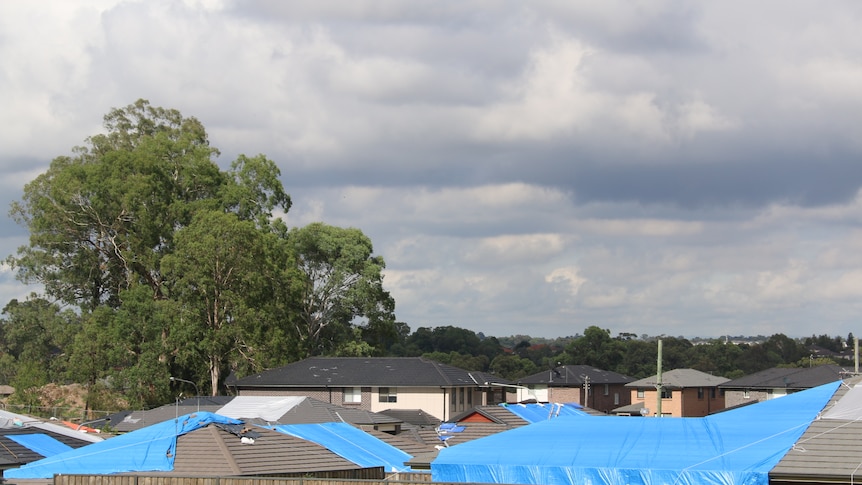
[(587, 328), (583, 335), (556, 339), (486, 337), (452, 326), (423, 327), (391, 346), (389, 353), (424, 355), (511, 380), (566, 364), (591, 365), (639, 379), (657, 372), (659, 339), (664, 369), (696, 369), (730, 379), (772, 367), (853, 365), (853, 334), (846, 339), (828, 335), (795, 339), (775, 334), (689, 340), (665, 335), (638, 337), (633, 333), (612, 337), (609, 330), (597, 326)]

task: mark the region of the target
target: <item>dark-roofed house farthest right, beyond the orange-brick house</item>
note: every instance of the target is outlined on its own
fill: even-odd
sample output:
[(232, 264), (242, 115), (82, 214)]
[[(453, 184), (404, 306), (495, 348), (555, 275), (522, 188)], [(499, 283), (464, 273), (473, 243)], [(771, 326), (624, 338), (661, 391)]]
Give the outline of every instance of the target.
[(845, 374), (844, 369), (837, 365), (773, 367), (725, 382), (718, 388), (724, 393), (725, 406), (732, 408), (839, 381)]

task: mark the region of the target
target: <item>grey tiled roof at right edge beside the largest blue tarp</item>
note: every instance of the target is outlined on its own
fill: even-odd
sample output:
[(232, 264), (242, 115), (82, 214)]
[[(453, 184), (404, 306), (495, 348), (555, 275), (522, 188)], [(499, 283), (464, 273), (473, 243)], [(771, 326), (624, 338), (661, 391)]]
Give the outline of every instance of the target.
[[(848, 398), (851, 388), (862, 378), (843, 382), (826, 404), (823, 416)], [(856, 396), (858, 397), (858, 396)], [(860, 403), (855, 403), (858, 408)], [(862, 463), (862, 421), (857, 419), (816, 419), (784, 455), (772, 471), (769, 483), (808, 481), (817, 483), (858, 483)]]

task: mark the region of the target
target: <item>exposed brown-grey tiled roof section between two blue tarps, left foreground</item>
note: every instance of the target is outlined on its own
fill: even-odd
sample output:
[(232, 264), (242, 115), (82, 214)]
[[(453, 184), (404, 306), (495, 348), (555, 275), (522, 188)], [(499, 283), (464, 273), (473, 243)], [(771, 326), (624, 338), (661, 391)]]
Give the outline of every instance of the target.
[(216, 425), (180, 436), (171, 474), (274, 475), (361, 468), (311, 441), (258, 427), (254, 433), (253, 444)]

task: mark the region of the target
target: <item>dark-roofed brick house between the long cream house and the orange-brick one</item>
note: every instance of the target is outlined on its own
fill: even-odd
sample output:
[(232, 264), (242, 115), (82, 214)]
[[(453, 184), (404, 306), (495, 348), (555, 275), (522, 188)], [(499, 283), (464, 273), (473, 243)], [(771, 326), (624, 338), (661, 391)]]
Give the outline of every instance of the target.
[(631, 404), (625, 387), (634, 379), (590, 365), (562, 365), (524, 377), (518, 401), (576, 403), (604, 413)]

